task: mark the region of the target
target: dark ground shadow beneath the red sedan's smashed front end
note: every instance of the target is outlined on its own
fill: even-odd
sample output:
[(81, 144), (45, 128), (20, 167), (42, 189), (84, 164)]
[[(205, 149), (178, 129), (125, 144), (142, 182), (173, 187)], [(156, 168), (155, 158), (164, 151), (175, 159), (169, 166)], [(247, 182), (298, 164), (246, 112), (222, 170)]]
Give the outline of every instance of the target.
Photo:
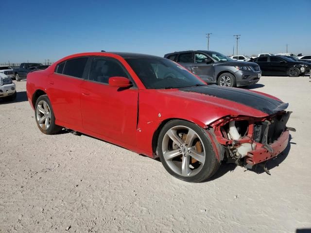
[[(281, 164), (286, 159), (286, 157), (288, 156), (289, 151), (291, 149), (291, 144), (294, 144), (294, 145), (296, 144), (294, 142), (291, 142), (291, 140), (292, 140), (292, 136), (290, 134), (289, 141), (288, 141), (288, 144), (287, 144), (287, 147), (285, 148), (285, 150), (283, 150), (283, 152), (281, 152), (276, 157), (267, 161), (265, 166), (268, 170), (271, 171), (273, 168), (275, 168), (276, 166), (279, 166), (279, 164)], [(236, 164), (225, 164), (224, 163), (220, 166), (220, 168), (218, 169), (218, 171), (215, 173), (214, 176), (212, 176), (210, 179), (208, 179), (204, 182), (216, 180), (216, 179), (222, 177), (223, 175), (225, 175), (227, 172), (229, 172), (229, 171), (232, 172), (236, 167), (237, 167)], [(247, 171), (246, 168), (245, 168), (245, 171)], [(255, 172), (257, 174), (265, 173), (263, 166), (259, 166), (259, 165), (254, 166), (252, 169), (249, 169), (249, 171)]]

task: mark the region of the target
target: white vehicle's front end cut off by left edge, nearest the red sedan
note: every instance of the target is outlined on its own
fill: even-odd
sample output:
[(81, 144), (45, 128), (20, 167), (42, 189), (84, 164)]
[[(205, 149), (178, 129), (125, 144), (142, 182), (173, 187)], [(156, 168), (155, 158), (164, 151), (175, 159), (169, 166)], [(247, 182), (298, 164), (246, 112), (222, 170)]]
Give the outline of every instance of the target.
[(0, 73), (0, 99), (12, 101), (16, 99), (16, 86), (12, 79)]

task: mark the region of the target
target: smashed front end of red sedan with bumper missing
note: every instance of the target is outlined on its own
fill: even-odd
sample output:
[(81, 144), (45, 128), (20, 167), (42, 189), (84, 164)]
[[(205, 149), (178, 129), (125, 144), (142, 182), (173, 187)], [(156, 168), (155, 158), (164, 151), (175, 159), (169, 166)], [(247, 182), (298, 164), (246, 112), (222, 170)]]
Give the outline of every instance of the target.
[(222, 158), (227, 163), (252, 169), (285, 150), (289, 131), (295, 131), (286, 126), (291, 113), (279, 111), (266, 117), (225, 116), (208, 129), (221, 145)]

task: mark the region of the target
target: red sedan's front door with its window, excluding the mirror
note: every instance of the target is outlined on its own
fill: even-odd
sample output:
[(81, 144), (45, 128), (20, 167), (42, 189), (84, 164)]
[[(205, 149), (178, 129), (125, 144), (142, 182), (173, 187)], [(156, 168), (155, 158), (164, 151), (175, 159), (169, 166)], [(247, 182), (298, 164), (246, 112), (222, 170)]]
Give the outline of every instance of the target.
[(109, 86), (110, 77), (130, 78), (117, 60), (93, 58), (88, 79), (81, 83), (83, 127), (110, 139), (136, 145), (138, 88)]

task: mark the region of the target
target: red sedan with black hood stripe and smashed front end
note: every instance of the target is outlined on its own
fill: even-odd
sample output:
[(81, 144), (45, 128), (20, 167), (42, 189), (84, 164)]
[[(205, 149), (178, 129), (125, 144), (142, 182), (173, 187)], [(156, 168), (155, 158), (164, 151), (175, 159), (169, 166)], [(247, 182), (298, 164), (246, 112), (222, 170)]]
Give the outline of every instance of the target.
[(247, 168), (283, 151), (288, 104), (276, 97), (207, 85), (171, 60), (90, 52), (29, 73), (27, 96), (42, 133), (85, 133), (152, 158), (188, 182), (222, 161)]

